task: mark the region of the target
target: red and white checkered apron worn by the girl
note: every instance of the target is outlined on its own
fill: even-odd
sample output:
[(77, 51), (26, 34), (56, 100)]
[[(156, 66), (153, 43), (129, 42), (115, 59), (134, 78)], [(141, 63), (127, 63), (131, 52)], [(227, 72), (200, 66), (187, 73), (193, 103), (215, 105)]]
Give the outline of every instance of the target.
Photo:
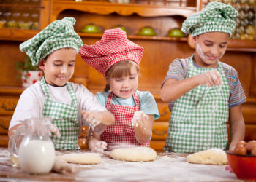
[(106, 108), (115, 116), (115, 124), (106, 127), (102, 133), (101, 140), (108, 143), (108, 151), (121, 147), (149, 146), (150, 141), (140, 144), (135, 138), (135, 130), (132, 126), (132, 117), (136, 111), (140, 110), (140, 99), (134, 93), (133, 99), (136, 106), (123, 106), (111, 104), (113, 92), (108, 95)]

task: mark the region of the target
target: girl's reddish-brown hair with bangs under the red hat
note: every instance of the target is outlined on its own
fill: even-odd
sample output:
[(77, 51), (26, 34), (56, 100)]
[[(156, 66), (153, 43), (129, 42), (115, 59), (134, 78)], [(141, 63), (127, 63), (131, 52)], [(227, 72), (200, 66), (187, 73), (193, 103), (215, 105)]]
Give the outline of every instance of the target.
[[(138, 64), (136, 64), (132, 60), (122, 60), (118, 63), (115, 63), (113, 64), (113, 66), (111, 66), (108, 69), (105, 79), (109, 81), (110, 78), (120, 78), (122, 76), (129, 76), (132, 74), (131, 73), (132, 66), (135, 66), (137, 73), (139, 73), (140, 67), (138, 66)], [(110, 85), (106, 84), (106, 87), (104, 90), (105, 92), (110, 90)]]

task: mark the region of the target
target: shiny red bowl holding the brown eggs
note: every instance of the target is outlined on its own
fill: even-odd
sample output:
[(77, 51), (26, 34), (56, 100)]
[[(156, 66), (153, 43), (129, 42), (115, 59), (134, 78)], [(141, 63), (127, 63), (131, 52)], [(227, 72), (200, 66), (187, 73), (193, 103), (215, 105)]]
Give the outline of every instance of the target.
[(256, 180), (256, 156), (227, 152), (227, 161), (237, 178)]

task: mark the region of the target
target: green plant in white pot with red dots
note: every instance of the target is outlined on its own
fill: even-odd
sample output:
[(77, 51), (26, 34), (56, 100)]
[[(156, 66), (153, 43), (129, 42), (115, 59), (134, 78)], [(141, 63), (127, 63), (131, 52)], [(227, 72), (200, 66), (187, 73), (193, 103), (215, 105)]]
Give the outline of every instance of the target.
[(15, 69), (20, 71), (22, 87), (29, 87), (31, 84), (42, 79), (42, 71), (38, 66), (32, 65), (29, 57), (26, 58), (25, 62), (17, 62)]

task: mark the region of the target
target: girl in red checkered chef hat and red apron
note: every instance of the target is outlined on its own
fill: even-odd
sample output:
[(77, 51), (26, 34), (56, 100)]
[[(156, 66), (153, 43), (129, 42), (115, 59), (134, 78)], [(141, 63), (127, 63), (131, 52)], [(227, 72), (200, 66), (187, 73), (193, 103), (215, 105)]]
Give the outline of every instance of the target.
[(149, 146), (159, 111), (150, 92), (137, 90), (143, 47), (129, 41), (126, 33), (117, 28), (105, 30), (94, 45), (84, 44), (80, 55), (105, 76), (105, 91), (98, 92), (96, 97), (116, 119), (101, 135), (92, 133), (89, 149)]

